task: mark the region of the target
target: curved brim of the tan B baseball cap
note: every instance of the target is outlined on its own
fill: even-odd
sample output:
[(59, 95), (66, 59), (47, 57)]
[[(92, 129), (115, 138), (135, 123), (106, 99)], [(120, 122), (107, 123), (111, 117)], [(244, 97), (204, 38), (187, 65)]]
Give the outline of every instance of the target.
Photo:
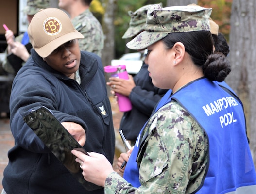
[(41, 48), (35, 48), (35, 51), (40, 57), (45, 58), (45, 57), (48, 57), (55, 49), (57, 49), (59, 46), (63, 45), (64, 43), (70, 40), (81, 39), (81, 38), (84, 38), (84, 36), (77, 30), (75, 30), (73, 32), (69, 32), (67, 34), (64, 34), (52, 40), (51, 42), (47, 43)]

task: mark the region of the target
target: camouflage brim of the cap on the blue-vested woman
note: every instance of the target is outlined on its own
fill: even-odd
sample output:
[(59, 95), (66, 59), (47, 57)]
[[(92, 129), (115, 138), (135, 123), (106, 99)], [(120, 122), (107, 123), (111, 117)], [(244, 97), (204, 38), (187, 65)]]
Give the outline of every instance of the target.
[(129, 49), (140, 50), (166, 37), (168, 33), (143, 31), (126, 44)]

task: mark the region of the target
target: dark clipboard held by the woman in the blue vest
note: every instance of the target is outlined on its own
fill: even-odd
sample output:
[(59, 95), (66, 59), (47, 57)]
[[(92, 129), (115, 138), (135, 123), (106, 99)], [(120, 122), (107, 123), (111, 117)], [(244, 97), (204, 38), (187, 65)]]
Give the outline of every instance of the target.
[(77, 149), (87, 155), (89, 154), (61, 125), (49, 109), (42, 106), (37, 110), (31, 110), (23, 119), (86, 190), (93, 191), (103, 188), (84, 179), (80, 164), (75, 162), (76, 156), (71, 153), (71, 150)]

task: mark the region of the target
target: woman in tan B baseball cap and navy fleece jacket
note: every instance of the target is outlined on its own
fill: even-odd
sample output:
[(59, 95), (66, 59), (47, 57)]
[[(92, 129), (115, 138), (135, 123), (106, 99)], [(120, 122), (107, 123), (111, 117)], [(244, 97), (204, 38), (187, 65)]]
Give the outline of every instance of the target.
[(112, 163), (115, 134), (101, 58), (80, 51), (78, 39), (84, 36), (60, 9), (40, 10), (28, 34), (31, 57), (17, 73), (10, 97), (15, 146), (4, 170), (4, 192), (104, 194), (102, 187), (79, 178), (81, 173), (72, 176), (64, 166), (76, 164), (70, 151), (63, 155), (62, 145), (54, 147), (60, 162), (23, 120), (29, 111), (45, 106), (85, 150), (102, 153)]

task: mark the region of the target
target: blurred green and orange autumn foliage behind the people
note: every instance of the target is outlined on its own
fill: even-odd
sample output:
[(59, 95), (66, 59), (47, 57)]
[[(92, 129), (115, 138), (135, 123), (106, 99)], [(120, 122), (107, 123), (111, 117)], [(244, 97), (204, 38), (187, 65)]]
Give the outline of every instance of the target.
[[(93, 14), (102, 20), (104, 15), (104, 7), (102, 6), (103, 0), (93, 0), (90, 6)], [(136, 52), (129, 50), (125, 45), (129, 40), (122, 39), (122, 35), (129, 27), (130, 16), (128, 11), (136, 11), (138, 8), (147, 4), (154, 4), (162, 2), (166, 6), (167, 0), (116, 0), (116, 13), (114, 20), (115, 27), (115, 58), (119, 58), (124, 53)], [(211, 18), (219, 25), (219, 32), (224, 34), (226, 39), (229, 39), (230, 32), (230, 15), (232, 0), (198, 0), (198, 5), (213, 8)]]

